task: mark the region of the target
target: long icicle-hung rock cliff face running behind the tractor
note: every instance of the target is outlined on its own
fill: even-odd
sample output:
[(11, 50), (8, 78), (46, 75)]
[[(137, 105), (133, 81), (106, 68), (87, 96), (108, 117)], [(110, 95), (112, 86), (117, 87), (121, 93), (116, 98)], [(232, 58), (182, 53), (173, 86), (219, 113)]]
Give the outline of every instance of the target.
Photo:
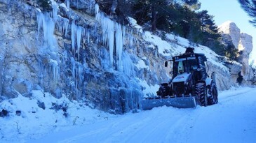
[[(107, 112), (136, 110), (170, 80), (163, 61), (190, 46), (171, 34), (142, 31), (132, 19), (133, 26), (124, 27), (93, 0), (52, 0), (50, 6), (43, 11), (35, 1), (0, 0), (1, 100), (37, 89)], [(196, 52), (208, 52), (208, 71), (217, 74), (220, 90), (236, 84), (217, 54), (201, 45)]]

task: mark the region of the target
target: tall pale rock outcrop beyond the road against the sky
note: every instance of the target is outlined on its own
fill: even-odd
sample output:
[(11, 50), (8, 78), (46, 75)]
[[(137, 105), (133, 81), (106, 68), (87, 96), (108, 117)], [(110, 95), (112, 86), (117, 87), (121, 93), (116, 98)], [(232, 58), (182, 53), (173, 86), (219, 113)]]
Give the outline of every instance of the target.
[(252, 68), (249, 66), (249, 55), (252, 52), (252, 36), (247, 33), (241, 33), (236, 24), (230, 21), (220, 25), (219, 30), (224, 38), (224, 43), (233, 44), (239, 52), (237, 61), (241, 63), (241, 70), (238, 68), (239, 64), (229, 64), (233, 80), (243, 76), (242, 84), (250, 85), (253, 77)]

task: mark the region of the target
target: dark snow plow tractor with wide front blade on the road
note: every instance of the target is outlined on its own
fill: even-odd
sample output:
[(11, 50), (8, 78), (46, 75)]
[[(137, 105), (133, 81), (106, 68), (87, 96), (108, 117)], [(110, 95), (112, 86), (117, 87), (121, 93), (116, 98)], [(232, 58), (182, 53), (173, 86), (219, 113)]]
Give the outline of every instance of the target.
[(173, 57), (165, 62), (170, 63), (168, 83), (160, 85), (157, 96), (142, 100), (142, 110), (153, 107), (173, 106), (178, 108), (193, 108), (196, 105), (208, 106), (218, 102), (215, 73), (211, 77), (206, 73), (206, 56), (194, 53), (194, 48), (188, 47), (184, 54)]

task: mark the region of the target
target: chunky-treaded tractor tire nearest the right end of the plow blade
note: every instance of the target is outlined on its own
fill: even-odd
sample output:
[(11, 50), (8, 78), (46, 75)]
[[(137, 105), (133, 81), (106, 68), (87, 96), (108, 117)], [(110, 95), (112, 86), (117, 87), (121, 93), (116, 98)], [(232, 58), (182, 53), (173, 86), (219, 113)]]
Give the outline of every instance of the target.
[(208, 105), (208, 98), (207, 98), (207, 89), (206, 84), (203, 82), (198, 82), (196, 84), (196, 98), (198, 101), (198, 104), (201, 106), (207, 106)]

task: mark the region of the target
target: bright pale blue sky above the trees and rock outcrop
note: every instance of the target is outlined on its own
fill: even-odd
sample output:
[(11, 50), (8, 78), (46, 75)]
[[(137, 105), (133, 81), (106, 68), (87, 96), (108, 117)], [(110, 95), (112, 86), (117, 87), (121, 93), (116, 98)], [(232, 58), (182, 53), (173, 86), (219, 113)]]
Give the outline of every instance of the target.
[[(255, 59), (256, 65), (256, 27), (253, 27), (248, 21), (251, 18), (241, 8), (238, 0), (199, 0), (201, 2), (200, 10), (208, 10), (209, 15), (213, 15), (215, 23), (220, 24), (230, 20), (235, 22), (236, 26), (243, 33), (252, 36), (253, 49), (250, 54), (250, 61)], [(249, 62), (250, 62), (249, 61)]]

